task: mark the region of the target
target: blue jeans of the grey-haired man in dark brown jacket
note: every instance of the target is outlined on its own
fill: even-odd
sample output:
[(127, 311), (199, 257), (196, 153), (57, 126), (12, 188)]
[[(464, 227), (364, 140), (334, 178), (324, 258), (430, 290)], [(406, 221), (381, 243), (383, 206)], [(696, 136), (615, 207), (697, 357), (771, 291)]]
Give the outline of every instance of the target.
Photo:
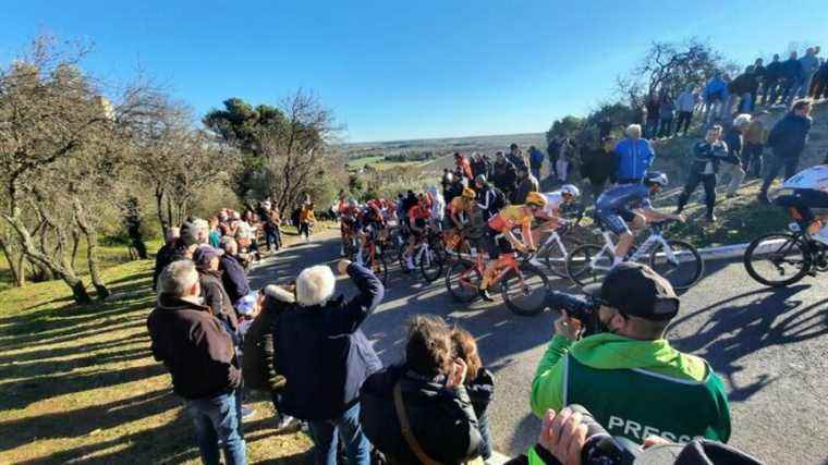
[(185, 405), (195, 423), (196, 441), (205, 465), (219, 464), (219, 439), (228, 465), (247, 463), (235, 391), (211, 399), (187, 401)]

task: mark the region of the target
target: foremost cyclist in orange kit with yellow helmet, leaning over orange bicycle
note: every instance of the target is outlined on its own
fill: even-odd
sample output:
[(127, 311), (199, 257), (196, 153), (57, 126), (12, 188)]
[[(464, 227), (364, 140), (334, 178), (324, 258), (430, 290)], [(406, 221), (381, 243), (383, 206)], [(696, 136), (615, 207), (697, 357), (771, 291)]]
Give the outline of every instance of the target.
[[(491, 261), (486, 266), (480, 280), (480, 298), (491, 302), (492, 298), (488, 293), (489, 283), (497, 273), (508, 266), (508, 261), (501, 260), (501, 256), (513, 258), (514, 249), (526, 252), (535, 249), (535, 242), (532, 240), (532, 221), (541, 215), (547, 200), (544, 194), (531, 192), (526, 195), (524, 205), (510, 205), (486, 223), (489, 236), (489, 257)], [(518, 238), (512, 230), (520, 228), (526, 243)]]

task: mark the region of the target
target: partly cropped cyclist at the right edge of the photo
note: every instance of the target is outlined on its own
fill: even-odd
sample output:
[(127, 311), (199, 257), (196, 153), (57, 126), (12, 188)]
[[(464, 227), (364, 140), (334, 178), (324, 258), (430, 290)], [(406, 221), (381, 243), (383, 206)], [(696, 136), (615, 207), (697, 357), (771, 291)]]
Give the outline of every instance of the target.
[[(779, 196), (776, 203), (796, 208), (802, 221), (808, 223), (811, 237), (828, 245), (828, 225), (824, 225), (828, 221), (828, 164), (817, 164), (794, 174), (782, 188), (793, 189), (793, 193)], [(812, 209), (817, 209), (818, 215)]]

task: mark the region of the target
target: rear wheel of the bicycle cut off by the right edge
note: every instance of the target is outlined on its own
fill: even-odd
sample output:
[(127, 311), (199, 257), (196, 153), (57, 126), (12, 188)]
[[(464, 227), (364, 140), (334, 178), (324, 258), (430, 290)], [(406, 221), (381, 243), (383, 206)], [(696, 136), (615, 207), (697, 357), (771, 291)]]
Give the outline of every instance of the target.
[(811, 271), (811, 248), (792, 234), (766, 234), (753, 240), (744, 252), (747, 274), (762, 284), (793, 284)]

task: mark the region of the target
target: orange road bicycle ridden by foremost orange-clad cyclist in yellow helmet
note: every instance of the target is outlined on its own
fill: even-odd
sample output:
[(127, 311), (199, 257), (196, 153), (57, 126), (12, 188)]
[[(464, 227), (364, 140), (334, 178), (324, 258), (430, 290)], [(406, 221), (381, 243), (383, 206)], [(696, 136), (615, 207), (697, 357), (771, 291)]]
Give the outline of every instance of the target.
[[(479, 297), (479, 286), (486, 270), (484, 255), (472, 247), (471, 257), (454, 261), (446, 272), (446, 287), (454, 299), (472, 303)], [(506, 306), (522, 316), (540, 313), (546, 303), (549, 280), (532, 264), (535, 254), (503, 254), (498, 258), (503, 266), (494, 277), (490, 289), (500, 286)]]

